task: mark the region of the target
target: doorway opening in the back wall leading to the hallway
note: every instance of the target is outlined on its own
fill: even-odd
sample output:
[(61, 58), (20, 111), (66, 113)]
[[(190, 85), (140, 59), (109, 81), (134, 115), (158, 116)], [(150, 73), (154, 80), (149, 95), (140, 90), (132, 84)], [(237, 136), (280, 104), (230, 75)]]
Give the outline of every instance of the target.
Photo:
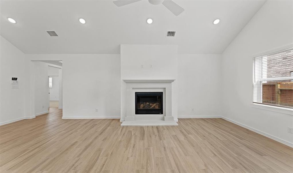
[(62, 61), (35, 60), (32, 67), (34, 115), (62, 111)]

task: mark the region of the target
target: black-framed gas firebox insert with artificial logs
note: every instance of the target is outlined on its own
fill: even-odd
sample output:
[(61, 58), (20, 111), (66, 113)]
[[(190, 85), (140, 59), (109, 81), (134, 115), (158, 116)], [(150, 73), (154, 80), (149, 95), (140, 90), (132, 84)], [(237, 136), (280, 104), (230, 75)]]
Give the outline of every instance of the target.
[(163, 114), (163, 92), (135, 92), (135, 114)]

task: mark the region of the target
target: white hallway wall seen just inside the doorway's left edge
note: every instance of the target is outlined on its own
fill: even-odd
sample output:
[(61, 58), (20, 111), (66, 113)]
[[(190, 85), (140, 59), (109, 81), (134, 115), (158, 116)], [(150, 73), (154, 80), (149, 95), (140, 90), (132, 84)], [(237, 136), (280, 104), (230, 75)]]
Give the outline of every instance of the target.
[(48, 64), (33, 62), (35, 67), (35, 115), (48, 112), (49, 108), (49, 77)]

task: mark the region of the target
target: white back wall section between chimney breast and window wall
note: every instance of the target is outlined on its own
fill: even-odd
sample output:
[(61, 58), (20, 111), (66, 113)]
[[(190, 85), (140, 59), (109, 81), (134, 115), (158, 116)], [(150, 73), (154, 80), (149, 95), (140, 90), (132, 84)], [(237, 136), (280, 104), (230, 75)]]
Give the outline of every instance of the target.
[(220, 82), (220, 54), (178, 55), (178, 118), (222, 116)]

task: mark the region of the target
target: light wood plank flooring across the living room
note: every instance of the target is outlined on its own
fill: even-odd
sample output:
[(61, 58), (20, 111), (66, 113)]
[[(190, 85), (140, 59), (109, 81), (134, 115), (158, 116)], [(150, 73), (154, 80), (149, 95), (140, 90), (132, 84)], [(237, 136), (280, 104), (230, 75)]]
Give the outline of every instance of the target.
[(0, 126), (0, 172), (293, 172), (293, 149), (220, 118), (121, 127), (62, 111)]

